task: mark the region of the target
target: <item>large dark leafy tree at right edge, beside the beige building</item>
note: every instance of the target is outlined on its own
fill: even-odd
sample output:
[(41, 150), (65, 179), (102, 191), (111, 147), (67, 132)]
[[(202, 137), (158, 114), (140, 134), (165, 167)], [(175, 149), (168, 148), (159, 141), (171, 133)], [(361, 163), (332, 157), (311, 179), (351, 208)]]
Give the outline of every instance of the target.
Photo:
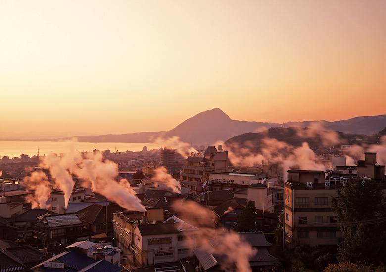
[(337, 189), (332, 208), (343, 233), (340, 262), (380, 264), (386, 261), (386, 204), (381, 184), (355, 179)]

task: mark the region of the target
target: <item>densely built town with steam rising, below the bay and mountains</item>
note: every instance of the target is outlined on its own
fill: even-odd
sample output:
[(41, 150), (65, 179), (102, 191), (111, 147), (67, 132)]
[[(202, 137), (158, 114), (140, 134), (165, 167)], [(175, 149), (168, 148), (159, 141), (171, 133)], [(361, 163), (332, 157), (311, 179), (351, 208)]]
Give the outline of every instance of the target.
[[(273, 153), (235, 160), (222, 145), (94, 150), (74, 165), (65, 154), (4, 156), (0, 271), (323, 271), (358, 256), (380, 265), (385, 255), (341, 257), (348, 227), (383, 223), (375, 234), (385, 233), (385, 166), (367, 151), (348, 163), (354, 148), (308, 148), (291, 164)], [(361, 197), (345, 190), (355, 181), (379, 186), (383, 206), (348, 224), (339, 192)]]

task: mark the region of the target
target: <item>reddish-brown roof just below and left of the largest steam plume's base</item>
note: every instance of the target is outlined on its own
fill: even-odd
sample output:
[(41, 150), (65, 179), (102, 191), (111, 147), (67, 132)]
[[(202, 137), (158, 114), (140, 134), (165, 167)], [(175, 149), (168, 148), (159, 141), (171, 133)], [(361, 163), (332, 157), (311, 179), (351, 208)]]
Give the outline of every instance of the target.
[[(116, 211), (124, 211), (119, 205), (107, 205), (107, 221), (112, 221), (112, 214)], [(106, 223), (106, 206), (94, 203), (78, 212), (76, 215), (83, 221), (91, 224)]]

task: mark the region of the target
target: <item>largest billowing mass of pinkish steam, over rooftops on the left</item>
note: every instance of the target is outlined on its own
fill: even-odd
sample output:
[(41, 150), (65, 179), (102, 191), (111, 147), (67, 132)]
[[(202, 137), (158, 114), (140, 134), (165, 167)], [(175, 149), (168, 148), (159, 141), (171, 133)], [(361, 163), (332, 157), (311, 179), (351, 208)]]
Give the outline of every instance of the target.
[[(115, 181), (118, 177), (118, 166), (114, 162), (103, 160), (100, 153), (81, 154), (72, 150), (63, 156), (50, 154), (43, 157), (40, 167), (48, 169), (53, 180), (53, 187), (64, 192), (65, 207), (74, 189), (73, 175), (81, 179), (84, 188), (90, 188), (104, 195), (111, 201), (128, 210), (145, 211), (145, 207), (136, 196), (126, 179)], [(49, 198), (50, 182), (43, 172), (33, 172), (24, 179), (27, 188), (35, 191), (35, 199), (30, 200), (36, 207), (45, 207)], [(49, 188), (49, 189), (48, 189)]]

